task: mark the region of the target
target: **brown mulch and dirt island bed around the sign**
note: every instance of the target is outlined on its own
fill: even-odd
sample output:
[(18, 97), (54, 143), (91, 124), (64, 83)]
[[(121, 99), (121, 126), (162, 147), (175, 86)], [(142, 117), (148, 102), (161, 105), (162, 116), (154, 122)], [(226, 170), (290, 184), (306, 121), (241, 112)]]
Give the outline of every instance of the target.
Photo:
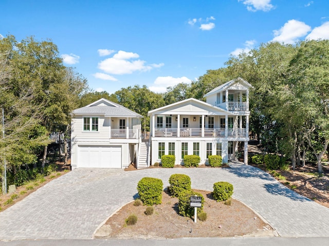
[[(154, 205), (154, 214), (144, 214), (146, 206), (126, 204), (110, 217), (95, 233), (95, 238), (181, 238), (273, 236), (271, 226), (265, 223), (243, 203), (232, 199), (231, 205), (216, 202), (211, 192), (199, 191), (205, 197), (207, 220), (194, 223), (194, 218), (178, 215), (178, 199), (162, 193), (162, 204)], [(125, 219), (135, 214), (135, 225), (125, 225)]]

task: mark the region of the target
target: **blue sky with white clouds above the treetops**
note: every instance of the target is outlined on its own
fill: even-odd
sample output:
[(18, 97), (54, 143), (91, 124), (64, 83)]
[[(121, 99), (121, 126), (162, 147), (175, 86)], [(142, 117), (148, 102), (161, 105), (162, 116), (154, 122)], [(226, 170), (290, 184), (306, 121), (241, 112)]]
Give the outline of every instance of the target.
[(51, 39), (94, 90), (155, 92), (224, 67), (230, 54), (329, 39), (327, 0), (0, 0), (0, 35)]

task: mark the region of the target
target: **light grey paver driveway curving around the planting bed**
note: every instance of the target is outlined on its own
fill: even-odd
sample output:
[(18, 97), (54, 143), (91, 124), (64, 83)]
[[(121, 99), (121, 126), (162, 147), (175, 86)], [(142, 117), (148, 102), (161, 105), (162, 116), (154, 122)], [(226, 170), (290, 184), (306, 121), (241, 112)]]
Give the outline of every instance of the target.
[(98, 226), (137, 194), (142, 177), (169, 185), (174, 173), (191, 177), (192, 188), (212, 191), (233, 184), (233, 197), (264, 217), (282, 237), (329, 236), (329, 209), (281, 185), (252, 166), (231, 168), (75, 169), (0, 213), (0, 239), (91, 239)]

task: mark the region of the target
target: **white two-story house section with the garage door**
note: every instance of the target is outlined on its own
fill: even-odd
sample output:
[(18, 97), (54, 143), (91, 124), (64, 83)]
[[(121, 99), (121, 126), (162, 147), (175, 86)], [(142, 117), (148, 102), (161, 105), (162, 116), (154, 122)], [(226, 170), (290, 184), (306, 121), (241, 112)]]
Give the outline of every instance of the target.
[(119, 104), (100, 99), (71, 113), (71, 167), (124, 168), (140, 159), (142, 118)]

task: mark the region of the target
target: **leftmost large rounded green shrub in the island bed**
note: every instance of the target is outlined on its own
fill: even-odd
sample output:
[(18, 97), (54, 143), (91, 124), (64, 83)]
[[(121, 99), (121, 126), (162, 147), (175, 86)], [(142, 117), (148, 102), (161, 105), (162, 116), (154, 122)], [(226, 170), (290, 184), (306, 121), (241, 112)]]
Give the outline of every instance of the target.
[(162, 180), (144, 177), (137, 184), (137, 191), (140, 200), (144, 205), (161, 204), (162, 200)]

